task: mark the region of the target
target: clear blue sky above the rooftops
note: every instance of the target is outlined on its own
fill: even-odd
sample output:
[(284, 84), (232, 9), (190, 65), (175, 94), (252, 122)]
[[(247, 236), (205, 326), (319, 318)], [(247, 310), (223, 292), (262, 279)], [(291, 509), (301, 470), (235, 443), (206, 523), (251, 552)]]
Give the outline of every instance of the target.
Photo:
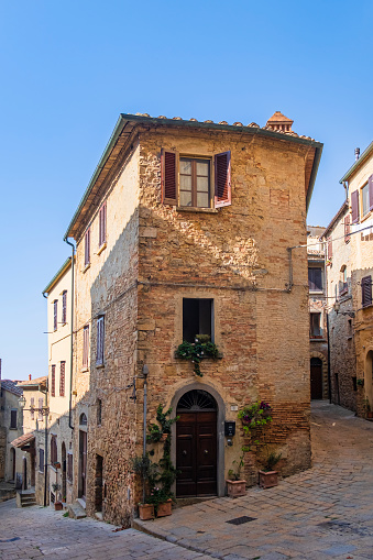
[(373, 3), (0, 0), (3, 377), (47, 373), (42, 290), (120, 112), (252, 121), (323, 142), (308, 223), (373, 140)]

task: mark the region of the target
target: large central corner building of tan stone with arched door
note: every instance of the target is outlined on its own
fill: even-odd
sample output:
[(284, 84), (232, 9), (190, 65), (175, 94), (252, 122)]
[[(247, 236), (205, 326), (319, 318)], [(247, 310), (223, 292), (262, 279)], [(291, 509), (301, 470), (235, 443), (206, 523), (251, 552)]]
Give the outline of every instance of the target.
[[(224, 421), (257, 399), (273, 407), (283, 474), (310, 464), (307, 255), (289, 248), (306, 243), (322, 144), (278, 119), (117, 123), (65, 235), (76, 241), (74, 497), (89, 515), (129, 523), (140, 498), (129, 459), (158, 404), (180, 416), (177, 496), (224, 494), (244, 442), (241, 422), (228, 442)], [(220, 358), (199, 377), (175, 351), (201, 333)], [(253, 484), (254, 452), (245, 460)]]

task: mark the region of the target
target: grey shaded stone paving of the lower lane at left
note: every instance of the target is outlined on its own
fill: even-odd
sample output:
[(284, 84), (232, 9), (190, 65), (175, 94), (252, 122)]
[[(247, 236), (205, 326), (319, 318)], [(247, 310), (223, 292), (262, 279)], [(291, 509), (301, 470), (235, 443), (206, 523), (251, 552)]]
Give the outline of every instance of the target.
[(211, 560), (135, 529), (113, 529), (88, 517), (64, 517), (63, 512), (50, 507), (18, 509), (15, 499), (10, 499), (0, 504), (0, 559)]

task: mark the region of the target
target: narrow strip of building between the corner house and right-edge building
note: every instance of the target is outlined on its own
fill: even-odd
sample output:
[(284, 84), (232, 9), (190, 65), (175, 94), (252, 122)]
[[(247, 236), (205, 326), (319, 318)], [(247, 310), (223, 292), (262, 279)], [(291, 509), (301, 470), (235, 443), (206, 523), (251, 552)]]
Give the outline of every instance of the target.
[(325, 243), (320, 242), (325, 228), (308, 226), (308, 288), (311, 399), (328, 398), (328, 325)]

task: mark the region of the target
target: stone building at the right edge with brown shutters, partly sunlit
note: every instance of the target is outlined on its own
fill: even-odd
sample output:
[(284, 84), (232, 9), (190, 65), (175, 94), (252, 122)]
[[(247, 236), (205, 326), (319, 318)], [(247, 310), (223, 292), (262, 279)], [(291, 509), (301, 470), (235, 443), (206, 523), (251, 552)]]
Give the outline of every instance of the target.
[(333, 399), (364, 416), (373, 407), (373, 142), (360, 157), (356, 152), (340, 180), (347, 201), (323, 235), (336, 299), (330, 312)]

